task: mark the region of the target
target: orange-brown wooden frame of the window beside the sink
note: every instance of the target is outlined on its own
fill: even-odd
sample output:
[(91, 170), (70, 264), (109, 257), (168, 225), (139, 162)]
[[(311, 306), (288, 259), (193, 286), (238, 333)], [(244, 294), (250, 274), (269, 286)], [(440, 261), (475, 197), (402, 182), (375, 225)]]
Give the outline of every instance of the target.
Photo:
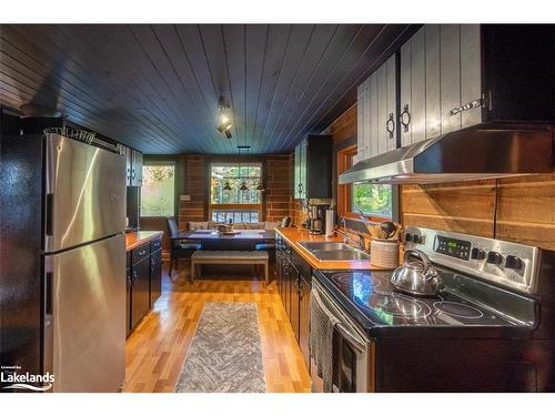
[[(353, 156), (356, 154), (356, 144), (349, 145), (344, 149), (337, 151), (337, 175), (350, 169), (353, 163)], [(353, 186), (352, 184), (337, 184), (337, 215), (345, 216), (349, 219), (361, 217), (359, 212), (353, 212), (352, 207), (353, 201)], [(398, 187), (397, 185), (392, 185), (392, 199), (391, 199), (391, 210), (392, 216), (381, 216), (373, 214), (364, 214), (364, 216), (372, 222), (384, 222), (384, 221), (395, 221), (398, 222)]]

